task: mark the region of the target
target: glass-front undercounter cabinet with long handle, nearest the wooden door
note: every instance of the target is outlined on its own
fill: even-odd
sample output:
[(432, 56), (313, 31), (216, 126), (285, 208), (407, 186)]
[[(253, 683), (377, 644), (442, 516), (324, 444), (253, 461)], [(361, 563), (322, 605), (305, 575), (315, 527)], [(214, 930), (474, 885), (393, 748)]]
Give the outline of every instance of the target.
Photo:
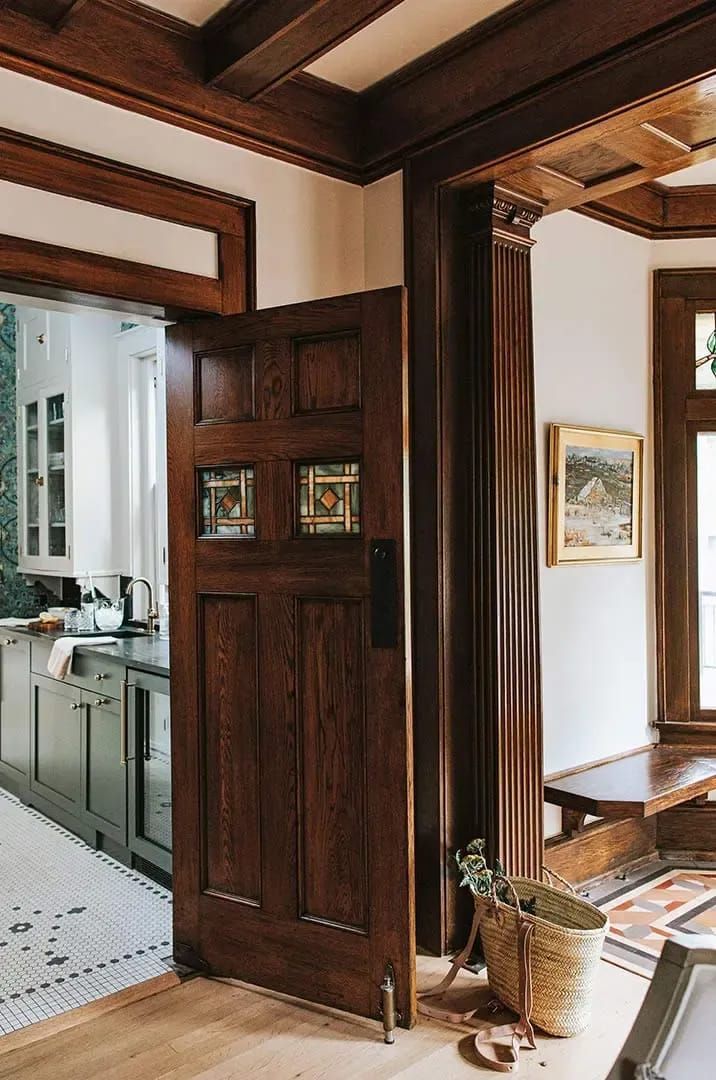
[(130, 847), (172, 872), (172, 724), (170, 680), (127, 671)]

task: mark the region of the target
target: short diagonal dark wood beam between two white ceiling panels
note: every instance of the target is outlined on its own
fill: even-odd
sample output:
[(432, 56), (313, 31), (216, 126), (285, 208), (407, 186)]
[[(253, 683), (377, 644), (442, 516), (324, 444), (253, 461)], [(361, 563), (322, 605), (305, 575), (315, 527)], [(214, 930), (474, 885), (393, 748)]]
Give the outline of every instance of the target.
[(237, 0), (205, 28), (207, 79), (254, 100), (397, 3)]

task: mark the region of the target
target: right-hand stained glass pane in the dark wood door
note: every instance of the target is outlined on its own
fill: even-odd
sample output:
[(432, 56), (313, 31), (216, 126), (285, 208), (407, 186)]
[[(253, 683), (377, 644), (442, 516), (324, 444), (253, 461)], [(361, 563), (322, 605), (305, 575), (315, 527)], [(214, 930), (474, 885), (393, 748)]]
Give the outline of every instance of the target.
[(299, 464), (298, 531), (302, 536), (361, 531), (357, 461)]

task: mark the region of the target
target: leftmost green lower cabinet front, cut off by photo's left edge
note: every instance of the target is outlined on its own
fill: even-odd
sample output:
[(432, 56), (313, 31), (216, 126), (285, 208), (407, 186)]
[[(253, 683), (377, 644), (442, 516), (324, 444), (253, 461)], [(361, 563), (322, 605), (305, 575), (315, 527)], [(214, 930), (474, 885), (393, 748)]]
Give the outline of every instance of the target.
[(19, 795), (30, 771), (30, 643), (0, 627), (0, 783)]

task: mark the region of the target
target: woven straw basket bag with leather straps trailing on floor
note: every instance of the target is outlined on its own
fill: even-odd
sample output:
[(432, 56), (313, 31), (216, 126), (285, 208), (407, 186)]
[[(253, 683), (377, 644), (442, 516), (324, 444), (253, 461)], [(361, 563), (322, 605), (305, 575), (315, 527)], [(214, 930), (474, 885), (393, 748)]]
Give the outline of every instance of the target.
[[(418, 1004), (428, 1016), (458, 1024), (472, 1021), (477, 1009), (455, 1012), (436, 999), (465, 966), (479, 931), (490, 989), (518, 1014), (515, 1024), (481, 1027), (475, 1036), (477, 1059), (496, 1072), (516, 1072), (521, 1045), (536, 1047), (533, 1025), (550, 1035), (571, 1036), (590, 1022), (594, 978), (609, 920), (559, 875), (546, 868), (544, 873), (550, 881), (554, 876), (569, 891), (532, 878), (496, 875), (491, 895), (473, 893), (475, 915), (468, 944), (440, 986), (421, 995)], [(512, 904), (498, 900), (498, 882), (511, 893)], [(521, 900), (531, 896), (538, 915), (519, 906)], [(503, 1039), (509, 1039), (510, 1045), (499, 1041)]]

